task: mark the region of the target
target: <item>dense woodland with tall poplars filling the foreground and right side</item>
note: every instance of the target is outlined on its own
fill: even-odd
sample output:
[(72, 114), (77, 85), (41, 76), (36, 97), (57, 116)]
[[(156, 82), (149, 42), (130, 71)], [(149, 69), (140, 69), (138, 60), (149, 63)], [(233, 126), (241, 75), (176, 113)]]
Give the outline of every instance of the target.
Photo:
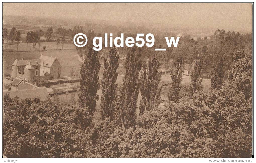
[[(72, 30), (58, 34), (72, 36)], [(78, 30), (78, 28), (76, 28)], [(83, 30), (79, 27), (81, 33)], [(80, 32), (79, 32), (80, 33)], [(11, 157), (251, 157), (252, 35), (216, 30), (210, 38), (185, 35), (177, 48), (110, 48), (99, 81), (99, 54), (87, 32), (80, 70), (79, 101), (18, 100), (4, 96), (4, 155)], [(125, 33), (125, 35), (130, 35)], [(98, 36), (98, 34), (97, 34)], [(165, 45), (155, 36), (155, 46)], [(99, 52), (100, 53), (100, 52)], [(120, 55), (127, 55), (123, 84), (116, 84)], [(196, 66), (181, 85), (184, 63)], [(170, 83), (159, 67), (170, 67)], [(202, 91), (202, 74), (211, 88)], [(102, 120), (94, 121), (102, 89)], [(159, 107), (161, 90), (168, 92)], [(138, 93), (142, 100), (137, 114)]]

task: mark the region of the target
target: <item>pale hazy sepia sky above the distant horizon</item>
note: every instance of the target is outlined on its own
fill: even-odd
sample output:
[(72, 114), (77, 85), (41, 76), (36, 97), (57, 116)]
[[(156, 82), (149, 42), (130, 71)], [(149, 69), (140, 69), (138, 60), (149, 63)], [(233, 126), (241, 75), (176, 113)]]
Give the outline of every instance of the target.
[(3, 15), (252, 30), (252, 4), (241, 3), (4, 3)]

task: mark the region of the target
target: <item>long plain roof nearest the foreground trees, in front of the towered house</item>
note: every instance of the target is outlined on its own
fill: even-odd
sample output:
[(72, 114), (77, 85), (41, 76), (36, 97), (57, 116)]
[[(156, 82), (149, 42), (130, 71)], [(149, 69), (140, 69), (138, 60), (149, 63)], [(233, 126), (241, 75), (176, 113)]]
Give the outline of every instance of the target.
[(49, 93), (47, 92), (47, 88), (34, 88), (34, 89), (26, 89), (26, 90), (16, 90), (16, 91), (8, 91), (4, 93), (9, 93), (10, 98), (18, 97), (19, 99), (25, 100), (28, 98), (34, 99), (39, 98), (40, 101), (45, 101), (47, 97), (49, 97)]

